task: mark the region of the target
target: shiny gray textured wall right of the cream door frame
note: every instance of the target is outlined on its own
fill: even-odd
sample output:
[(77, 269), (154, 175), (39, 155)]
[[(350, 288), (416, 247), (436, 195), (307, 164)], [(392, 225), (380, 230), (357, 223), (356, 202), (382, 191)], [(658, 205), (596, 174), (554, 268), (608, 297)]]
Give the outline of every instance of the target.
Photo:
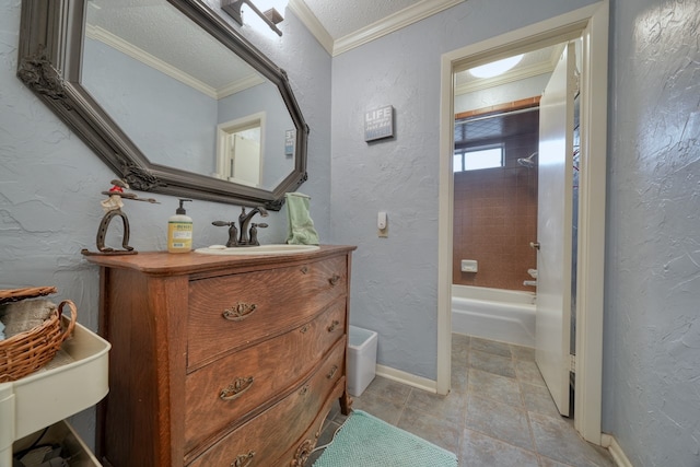
[(700, 465), (700, 1), (611, 9), (604, 428)]

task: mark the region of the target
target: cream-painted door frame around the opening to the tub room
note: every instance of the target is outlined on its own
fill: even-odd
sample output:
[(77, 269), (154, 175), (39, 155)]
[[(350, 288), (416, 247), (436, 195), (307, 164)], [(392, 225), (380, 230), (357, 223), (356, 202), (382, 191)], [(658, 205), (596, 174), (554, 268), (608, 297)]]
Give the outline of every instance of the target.
[(452, 341), (454, 71), (522, 50), (532, 50), (574, 37), (583, 38), (574, 427), (586, 441), (598, 445), (602, 443), (608, 11), (608, 0), (602, 0), (444, 54), (440, 110), (436, 389), (439, 394), (447, 394)]

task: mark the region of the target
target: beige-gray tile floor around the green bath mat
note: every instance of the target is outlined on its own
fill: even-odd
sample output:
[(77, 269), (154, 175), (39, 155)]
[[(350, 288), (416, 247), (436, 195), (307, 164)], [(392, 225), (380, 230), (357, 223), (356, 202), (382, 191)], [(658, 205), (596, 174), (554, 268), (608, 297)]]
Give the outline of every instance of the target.
[[(615, 465), (606, 450), (583, 441), (572, 420), (559, 416), (530, 348), (455, 334), (450, 395), (377, 376), (352, 407), (452, 451), (459, 467)], [(318, 445), (343, 420), (335, 407)]]

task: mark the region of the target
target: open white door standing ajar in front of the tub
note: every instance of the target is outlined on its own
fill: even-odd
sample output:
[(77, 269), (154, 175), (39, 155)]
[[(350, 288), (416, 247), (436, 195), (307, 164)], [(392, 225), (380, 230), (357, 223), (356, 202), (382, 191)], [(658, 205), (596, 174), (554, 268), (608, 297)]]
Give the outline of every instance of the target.
[(570, 43), (539, 103), (536, 361), (563, 416), (569, 416), (574, 67)]

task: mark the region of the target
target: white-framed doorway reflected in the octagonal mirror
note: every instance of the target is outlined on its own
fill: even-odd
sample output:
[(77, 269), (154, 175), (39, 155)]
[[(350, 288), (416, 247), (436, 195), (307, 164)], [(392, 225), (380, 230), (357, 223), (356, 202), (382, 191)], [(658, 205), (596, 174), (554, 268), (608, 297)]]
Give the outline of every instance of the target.
[(218, 126), (217, 174), (219, 178), (260, 186), (265, 114)]

